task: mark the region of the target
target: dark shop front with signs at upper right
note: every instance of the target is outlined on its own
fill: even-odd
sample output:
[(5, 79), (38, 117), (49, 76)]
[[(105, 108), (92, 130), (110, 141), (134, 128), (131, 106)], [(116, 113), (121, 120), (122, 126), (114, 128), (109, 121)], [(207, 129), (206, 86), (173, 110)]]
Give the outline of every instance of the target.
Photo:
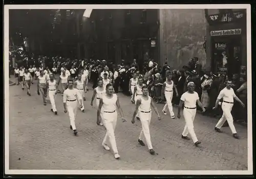
[[(206, 50), (211, 70), (218, 74), (246, 75), (246, 10), (209, 16)], [(213, 18), (212, 18), (213, 17)]]

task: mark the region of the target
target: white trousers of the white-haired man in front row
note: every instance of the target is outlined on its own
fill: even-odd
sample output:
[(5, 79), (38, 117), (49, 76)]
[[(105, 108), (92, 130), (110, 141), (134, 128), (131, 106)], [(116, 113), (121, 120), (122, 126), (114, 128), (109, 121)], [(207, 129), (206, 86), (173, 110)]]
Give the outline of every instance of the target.
[(185, 118), (186, 125), (184, 127), (182, 136), (187, 136), (187, 134), (190, 134), (190, 137), (192, 138), (193, 142), (196, 143), (198, 141), (197, 136), (194, 131), (194, 119), (196, 117), (197, 109), (187, 109), (184, 108), (183, 115)]

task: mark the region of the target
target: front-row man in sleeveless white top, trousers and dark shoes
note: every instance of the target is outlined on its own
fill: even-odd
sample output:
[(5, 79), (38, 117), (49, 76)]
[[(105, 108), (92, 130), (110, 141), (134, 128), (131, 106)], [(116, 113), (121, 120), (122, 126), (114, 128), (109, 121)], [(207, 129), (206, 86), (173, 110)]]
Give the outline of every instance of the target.
[(133, 113), (133, 119), (132, 123), (135, 122), (135, 117), (139, 112), (140, 116), (140, 121), (142, 124), (142, 130), (139, 135), (139, 140), (138, 142), (142, 145), (145, 146), (143, 140), (142, 140), (142, 135), (144, 134), (148, 150), (151, 155), (155, 154), (155, 151), (153, 149), (152, 143), (151, 143), (151, 137), (150, 137), (150, 122), (151, 122), (151, 106), (154, 108), (155, 112), (157, 113), (158, 120), (160, 120), (160, 115), (157, 110), (157, 107), (154, 104), (154, 101), (150, 96), (148, 96), (148, 89), (146, 86), (142, 87), (142, 96), (137, 99), (136, 101), (136, 109)]

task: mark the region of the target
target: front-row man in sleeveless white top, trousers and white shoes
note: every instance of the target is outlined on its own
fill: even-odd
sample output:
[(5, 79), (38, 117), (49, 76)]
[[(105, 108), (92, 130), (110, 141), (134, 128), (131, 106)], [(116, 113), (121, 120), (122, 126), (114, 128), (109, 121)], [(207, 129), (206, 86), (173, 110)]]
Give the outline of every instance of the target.
[(106, 127), (106, 135), (102, 142), (102, 146), (105, 150), (110, 150), (110, 147), (107, 145), (110, 142), (112, 150), (114, 152), (115, 159), (119, 159), (120, 156), (118, 154), (117, 146), (116, 146), (116, 137), (115, 137), (115, 128), (117, 122), (117, 112), (118, 109), (122, 122), (125, 122), (125, 118), (123, 117), (123, 111), (119, 104), (119, 99), (116, 94), (114, 94), (114, 88), (111, 83), (106, 85), (106, 95), (102, 95), (102, 98), (99, 100), (99, 107), (97, 111), (97, 124), (100, 124), (100, 114), (102, 108), (102, 120), (104, 126)]

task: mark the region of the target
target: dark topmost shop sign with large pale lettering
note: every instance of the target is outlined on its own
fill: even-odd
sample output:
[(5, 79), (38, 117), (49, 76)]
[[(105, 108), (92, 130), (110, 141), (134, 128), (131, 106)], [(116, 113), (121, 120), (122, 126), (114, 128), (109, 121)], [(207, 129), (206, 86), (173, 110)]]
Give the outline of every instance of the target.
[(231, 22), (233, 20), (239, 20), (245, 17), (246, 12), (245, 11), (237, 11), (233, 12), (233, 17), (229, 14), (213, 14), (209, 15), (209, 19), (211, 22)]

